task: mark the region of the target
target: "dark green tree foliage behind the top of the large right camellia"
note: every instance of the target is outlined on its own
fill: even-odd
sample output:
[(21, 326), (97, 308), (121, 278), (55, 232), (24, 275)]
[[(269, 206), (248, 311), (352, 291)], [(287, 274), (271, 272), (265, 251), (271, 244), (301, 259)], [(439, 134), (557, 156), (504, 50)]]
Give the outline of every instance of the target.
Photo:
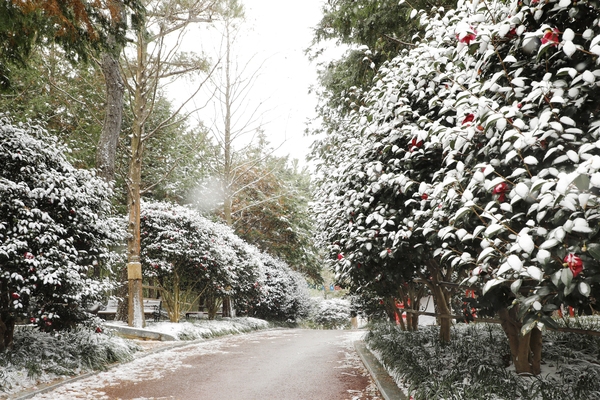
[(350, 88), (367, 90), (376, 71), (385, 61), (410, 48), (418, 40), (418, 19), (411, 19), (413, 9), (429, 11), (432, 7), (452, 8), (455, 0), (416, 0), (399, 4), (398, 0), (334, 0), (323, 7), (323, 18), (315, 28), (313, 56), (318, 44), (333, 40), (349, 46), (366, 46), (365, 53), (356, 47), (342, 59), (321, 69), (319, 80), (330, 107), (348, 107), (345, 98)]

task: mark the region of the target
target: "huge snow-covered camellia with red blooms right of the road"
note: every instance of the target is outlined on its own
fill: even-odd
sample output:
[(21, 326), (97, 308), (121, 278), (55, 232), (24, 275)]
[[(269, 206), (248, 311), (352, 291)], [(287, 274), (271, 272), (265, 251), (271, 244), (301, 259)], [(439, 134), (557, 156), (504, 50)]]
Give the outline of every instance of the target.
[(341, 281), (425, 282), (446, 340), (450, 288), (477, 289), (517, 372), (537, 374), (557, 310), (600, 296), (598, 5), (413, 17), (422, 36), (317, 147), (323, 240)]

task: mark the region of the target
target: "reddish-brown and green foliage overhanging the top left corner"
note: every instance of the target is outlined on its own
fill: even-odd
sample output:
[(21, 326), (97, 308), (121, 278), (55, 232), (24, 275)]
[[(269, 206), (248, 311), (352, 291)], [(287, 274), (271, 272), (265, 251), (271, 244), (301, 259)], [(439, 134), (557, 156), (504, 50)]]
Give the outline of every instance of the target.
[[(10, 64), (31, 65), (37, 46), (57, 44), (66, 59), (87, 61), (90, 54), (125, 44), (127, 15), (143, 19), (140, 0), (99, 5), (82, 0), (0, 2), (0, 88), (10, 86)], [(109, 39), (110, 38), (110, 39)]]

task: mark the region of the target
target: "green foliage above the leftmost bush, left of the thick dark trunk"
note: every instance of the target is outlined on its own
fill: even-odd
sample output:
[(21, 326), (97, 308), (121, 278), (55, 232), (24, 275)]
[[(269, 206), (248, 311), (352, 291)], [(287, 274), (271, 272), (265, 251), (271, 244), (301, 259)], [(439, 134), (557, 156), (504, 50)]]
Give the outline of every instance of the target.
[(79, 168), (95, 166), (104, 118), (102, 72), (94, 64), (72, 65), (54, 50), (34, 51), (27, 68), (11, 63), (11, 85), (0, 91), (0, 109), (17, 122), (37, 121), (66, 144)]

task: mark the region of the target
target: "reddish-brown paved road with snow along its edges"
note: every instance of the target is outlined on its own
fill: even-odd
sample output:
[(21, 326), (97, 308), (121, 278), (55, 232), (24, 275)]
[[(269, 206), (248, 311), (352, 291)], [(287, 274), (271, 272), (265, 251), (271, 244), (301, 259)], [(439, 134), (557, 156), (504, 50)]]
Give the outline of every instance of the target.
[(152, 354), (34, 399), (380, 399), (357, 332), (274, 330)]

